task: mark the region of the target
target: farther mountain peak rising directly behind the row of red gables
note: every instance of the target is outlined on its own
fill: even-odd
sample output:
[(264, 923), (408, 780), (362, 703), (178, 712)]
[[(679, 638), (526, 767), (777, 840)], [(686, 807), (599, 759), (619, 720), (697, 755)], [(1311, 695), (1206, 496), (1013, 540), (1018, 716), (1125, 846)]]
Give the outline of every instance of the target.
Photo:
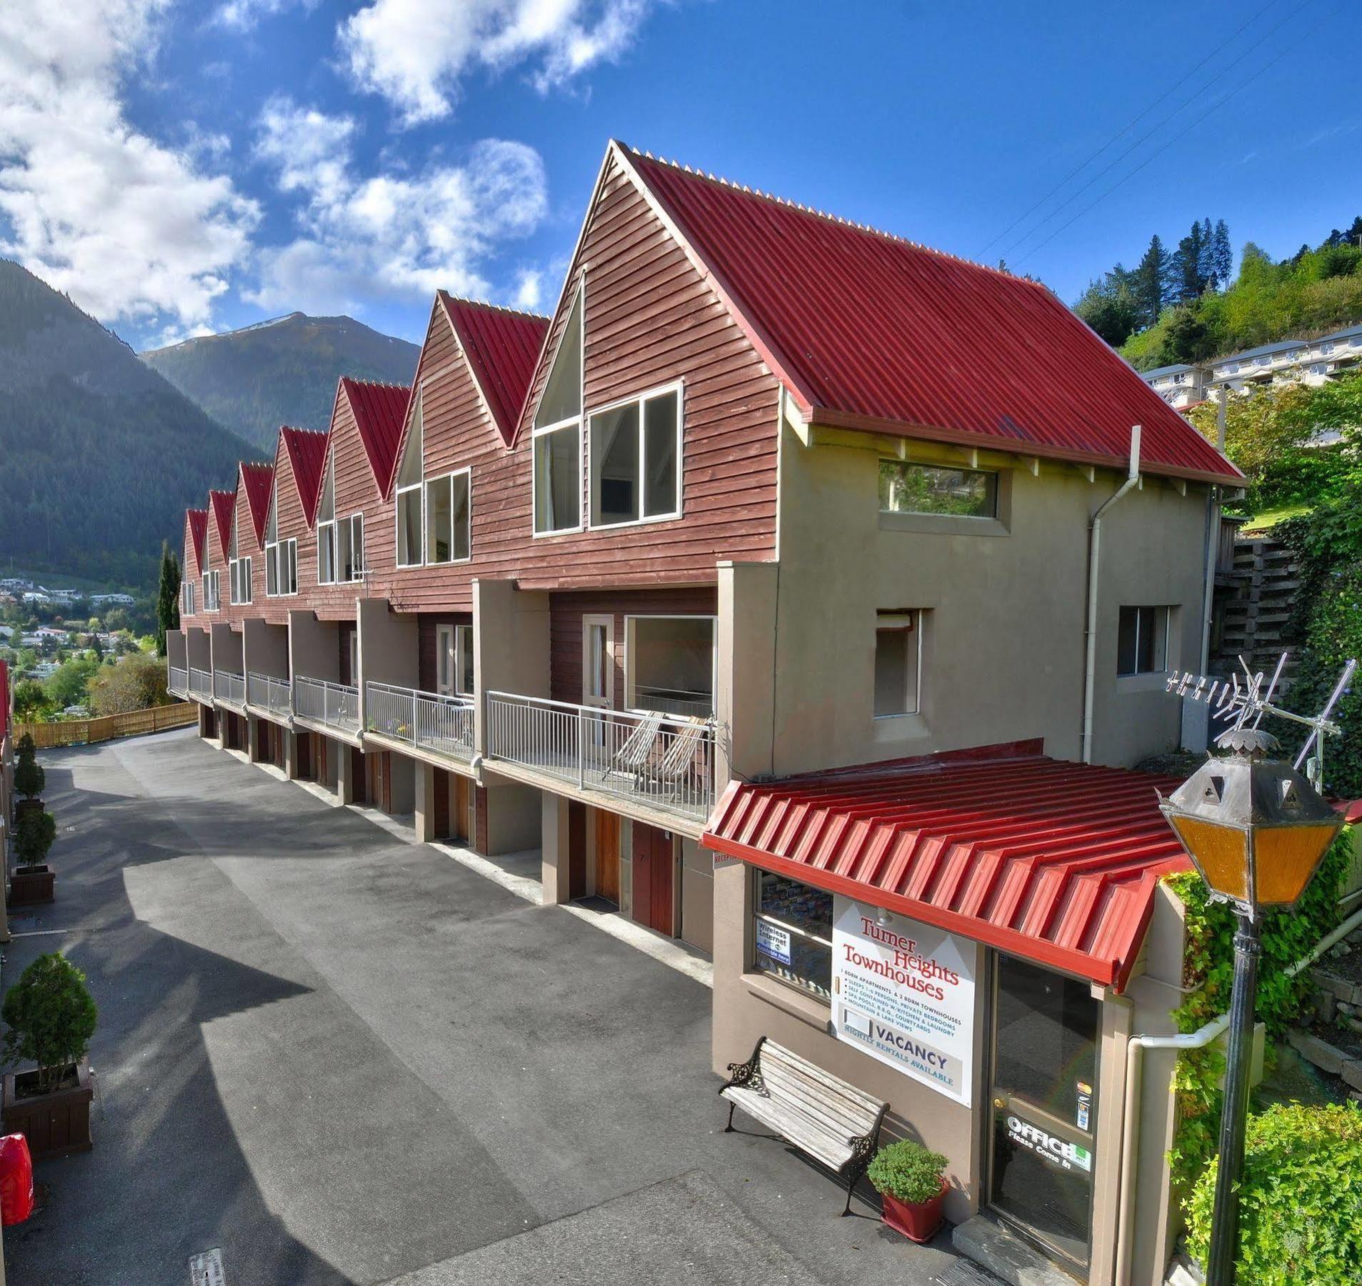
[(324, 429), (336, 380), (410, 384), (421, 349), (353, 317), (289, 313), (142, 354), (219, 424), (274, 452), (282, 424)]

